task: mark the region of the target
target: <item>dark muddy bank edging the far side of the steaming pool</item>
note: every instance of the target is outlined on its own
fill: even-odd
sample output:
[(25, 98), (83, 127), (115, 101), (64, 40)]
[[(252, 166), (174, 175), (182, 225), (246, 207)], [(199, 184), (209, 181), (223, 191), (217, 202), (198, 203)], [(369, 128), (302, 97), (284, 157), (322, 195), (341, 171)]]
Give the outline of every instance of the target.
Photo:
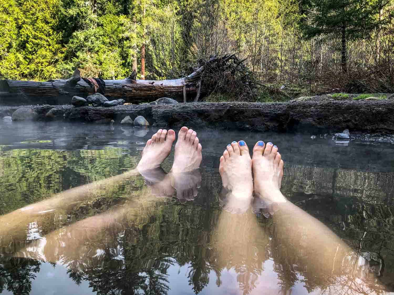
[[(18, 110), (18, 111), (17, 111)], [(15, 112), (17, 111), (17, 112)], [(254, 131), (338, 132), (342, 129), (394, 133), (394, 100), (290, 101), (286, 103), (177, 103), (74, 107), (36, 105), (0, 107), (13, 121), (65, 121), (120, 124), (126, 116), (144, 116), (151, 126), (190, 125)]]

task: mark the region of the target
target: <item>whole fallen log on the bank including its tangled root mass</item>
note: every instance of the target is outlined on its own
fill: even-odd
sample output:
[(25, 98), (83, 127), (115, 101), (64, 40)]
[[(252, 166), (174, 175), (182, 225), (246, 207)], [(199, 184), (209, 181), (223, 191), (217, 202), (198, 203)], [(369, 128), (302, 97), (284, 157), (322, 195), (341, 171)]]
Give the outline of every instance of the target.
[[(204, 94), (215, 91), (250, 92), (255, 85), (251, 72), (235, 55), (212, 57), (200, 61), (199, 66), (189, 76), (173, 80), (136, 80), (136, 72), (122, 80), (104, 80), (107, 98), (123, 98), (126, 102), (153, 101), (161, 97), (171, 97), (179, 101), (198, 101)], [(0, 103), (21, 104), (66, 104), (72, 96), (86, 97), (93, 94), (94, 87), (88, 85), (75, 70), (70, 79), (36, 81), (0, 81)], [(245, 91), (243, 91), (244, 93)], [(236, 94), (236, 93), (234, 93)]]

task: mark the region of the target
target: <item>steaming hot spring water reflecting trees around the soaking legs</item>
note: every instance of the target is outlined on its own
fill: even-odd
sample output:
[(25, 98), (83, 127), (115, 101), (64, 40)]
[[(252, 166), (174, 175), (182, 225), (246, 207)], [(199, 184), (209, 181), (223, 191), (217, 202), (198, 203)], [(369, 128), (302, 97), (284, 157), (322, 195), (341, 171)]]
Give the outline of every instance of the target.
[[(310, 135), (189, 127), (203, 146), (197, 197), (154, 197), (141, 176), (102, 185), (72, 203), (65, 197), (61, 208), (45, 210), (21, 223), (20, 230), (0, 235), (0, 293), (394, 291), (394, 144), (354, 140), (346, 146), (331, 136), (312, 140)], [(0, 215), (29, 210), (56, 193), (131, 170), (154, 131), (0, 122)], [(249, 147), (257, 140), (279, 146), (286, 163), (283, 194), (354, 250), (338, 258), (331, 273), (312, 270), (302, 232), (288, 241), (262, 215), (255, 217), (266, 233), (258, 244), (215, 247), (223, 211), (219, 157), (228, 143), (241, 139)], [(162, 165), (165, 171), (172, 161), (173, 153)], [(11, 226), (3, 222), (0, 233)]]

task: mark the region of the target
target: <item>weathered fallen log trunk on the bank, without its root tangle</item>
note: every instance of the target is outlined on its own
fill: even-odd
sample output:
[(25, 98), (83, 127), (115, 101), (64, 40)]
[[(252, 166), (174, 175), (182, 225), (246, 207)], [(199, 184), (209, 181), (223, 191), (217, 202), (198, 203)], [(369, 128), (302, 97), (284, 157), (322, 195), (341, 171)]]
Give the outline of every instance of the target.
[[(123, 98), (126, 102), (139, 103), (154, 101), (161, 97), (171, 97), (179, 101), (194, 98), (197, 83), (200, 81), (204, 66), (189, 76), (173, 80), (133, 80), (130, 77), (122, 80), (104, 80), (105, 96), (110, 99)], [(203, 92), (204, 89), (201, 89)], [(86, 96), (94, 93), (79, 76), (76, 70), (67, 80), (50, 80), (46, 82), (0, 80), (0, 104), (70, 104), (72, 96)]]

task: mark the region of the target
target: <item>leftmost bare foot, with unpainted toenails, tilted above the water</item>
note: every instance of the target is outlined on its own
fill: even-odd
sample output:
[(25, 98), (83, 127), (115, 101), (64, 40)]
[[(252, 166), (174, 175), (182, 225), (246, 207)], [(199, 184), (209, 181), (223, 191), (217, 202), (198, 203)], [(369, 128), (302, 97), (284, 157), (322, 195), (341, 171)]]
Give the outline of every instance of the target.
[(151, 139), (147, 141), (142, 151), (142, 158), (138, 163), (138, 171), (154, 169), (160, 166), (171, 151), (175, 140), (175, 131), (159, 129)]

